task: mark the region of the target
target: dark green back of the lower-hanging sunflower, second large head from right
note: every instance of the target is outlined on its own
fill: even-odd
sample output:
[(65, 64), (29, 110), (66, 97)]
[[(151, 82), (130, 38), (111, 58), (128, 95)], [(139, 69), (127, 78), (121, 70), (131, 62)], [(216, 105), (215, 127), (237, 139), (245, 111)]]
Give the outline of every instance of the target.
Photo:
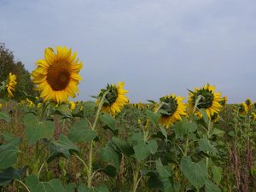
[[(160, 98), (160, 102), (163, 102), (164, 104), (160, 108), (160, 113), (163, 116), (169, 116), (172, 115), (177, 111), (177, 99), (174, 98), (173, 96), (171, 97), (162, 97)], [(161, 111), (164, 111), (162, 113)]]

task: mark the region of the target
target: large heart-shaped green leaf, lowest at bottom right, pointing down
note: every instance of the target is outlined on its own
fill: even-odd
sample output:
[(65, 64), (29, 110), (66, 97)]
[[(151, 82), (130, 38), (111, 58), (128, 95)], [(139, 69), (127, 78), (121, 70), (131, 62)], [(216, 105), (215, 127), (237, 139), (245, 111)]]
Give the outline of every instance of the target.
[(207, 166), (204, 160), (194, 163), (189, 156), (184, 156), (181, 160), (181, 171), (189, 182), (196, 188), (201, 187), (208, 179)]

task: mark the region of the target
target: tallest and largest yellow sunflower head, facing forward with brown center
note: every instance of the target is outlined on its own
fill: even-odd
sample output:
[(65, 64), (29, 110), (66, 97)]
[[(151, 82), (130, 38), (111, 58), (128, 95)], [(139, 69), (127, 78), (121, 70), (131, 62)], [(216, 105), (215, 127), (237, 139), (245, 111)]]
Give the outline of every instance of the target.
[(41, 92), (44, 102), (67, 102), (68, 96), (75, 97), (79, 92), (82, 61), (76, 59), (76, 52), (72, 54), (72, 49), (57, 46), (56, 52), (46, 48), (44, 59), (38, 60), (38, 67), (32, 71), (32, 81), (38, 85), (36, 90)]

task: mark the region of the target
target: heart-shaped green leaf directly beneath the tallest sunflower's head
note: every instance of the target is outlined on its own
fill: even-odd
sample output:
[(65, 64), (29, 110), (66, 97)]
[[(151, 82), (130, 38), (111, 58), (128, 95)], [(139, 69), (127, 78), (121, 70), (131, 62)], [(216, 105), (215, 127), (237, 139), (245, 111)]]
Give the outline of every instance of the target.
[(39, 139), (51, 137), (54, 134), (55, 125), (52, 121), (38, 121), (37, 117), (32, 113), (26, 114), (23, 120), (29, 145), (36, 143)]

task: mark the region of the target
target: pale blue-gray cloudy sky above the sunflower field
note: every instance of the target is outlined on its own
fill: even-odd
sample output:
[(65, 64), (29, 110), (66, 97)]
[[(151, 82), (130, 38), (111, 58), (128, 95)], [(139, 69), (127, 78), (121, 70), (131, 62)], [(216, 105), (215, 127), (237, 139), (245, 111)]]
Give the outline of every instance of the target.
[(131, 102), (214, 84), (256, 101), (255, 0), (0, 0), (0, 42), (31, 72), (46, 47), (78, 52), (79, 100), (125, 82)]

